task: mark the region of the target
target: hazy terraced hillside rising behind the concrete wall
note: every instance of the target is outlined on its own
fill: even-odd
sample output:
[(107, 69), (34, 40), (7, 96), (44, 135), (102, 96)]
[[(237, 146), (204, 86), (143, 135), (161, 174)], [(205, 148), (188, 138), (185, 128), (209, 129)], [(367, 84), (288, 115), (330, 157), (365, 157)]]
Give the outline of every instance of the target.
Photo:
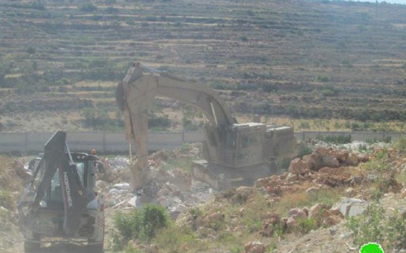
[[(0, 59), (5, 131), (121, 128), (134, 61), (209, 82), (243, 119), (406, 121), (406, 5), (4, 0)], [(156, 104), (179, 128), (188, 108)]]

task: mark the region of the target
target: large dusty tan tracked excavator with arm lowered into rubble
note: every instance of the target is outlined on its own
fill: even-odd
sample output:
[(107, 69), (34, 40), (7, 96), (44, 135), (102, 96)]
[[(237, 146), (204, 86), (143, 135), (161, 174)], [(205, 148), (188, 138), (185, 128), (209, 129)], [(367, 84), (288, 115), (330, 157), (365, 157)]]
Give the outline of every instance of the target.
[(146, 180), (147, 115), (156, 96), (185, 102), (204, 115), (204, 160), (194, 162), (193, 176), (217, 190), (252, 185), (259, 178), (277, 174), (276, 162), (295, 155), (292, 127), (238, 123), (223, 99), (204, 83), (134, 63), (116, 90), (117, 104), (125, 115), (127, 141), (136, 143), (134, 189), (142, 188)]

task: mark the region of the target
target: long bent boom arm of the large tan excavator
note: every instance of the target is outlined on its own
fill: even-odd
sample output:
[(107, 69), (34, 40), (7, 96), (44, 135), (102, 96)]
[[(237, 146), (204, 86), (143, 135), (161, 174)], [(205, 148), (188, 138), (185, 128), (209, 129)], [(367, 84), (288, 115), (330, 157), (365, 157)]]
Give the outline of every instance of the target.
[[(136, 142), (138, 160), (133, 170), (134, 181), (143, 180), (138, 171), (147, 167), (147, 112), (157, 95), (174, 98), (199, 109), (215, 128), (222, 129), (236, 123), (225, 102), (203, 83), (186, 81), (167, 73), (144, 75), (143, 70), (146, 69), (139, 63), (133, 64), (116, 91), (117, 103), (125, 113), (127, 141)], [(135, 184), (137, 189), (142, 183)]]

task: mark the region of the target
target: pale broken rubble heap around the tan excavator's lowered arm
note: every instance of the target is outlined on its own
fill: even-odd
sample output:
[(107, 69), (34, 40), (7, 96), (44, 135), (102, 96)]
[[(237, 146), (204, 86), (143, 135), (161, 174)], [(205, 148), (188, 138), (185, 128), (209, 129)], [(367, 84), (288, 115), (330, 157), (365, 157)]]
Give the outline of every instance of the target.
[(166, 171), (162, 165), (176, 159), (195, 157), (200, 144), (190, 144), (176, 150), (161, 150), (148, 157), (149, 170), (142, 190), (130, 187), (130, 161), (124, 157), (105, 158), (105, 173), (96, 181), (96, 189), (105, 194), (107, 206), (134, 208), (153, 202), (165, 206), (176, 218), (187, 207), (207, 201), (213, 190), (204, 183), (194, 182), (192, 175), (180, 168)]

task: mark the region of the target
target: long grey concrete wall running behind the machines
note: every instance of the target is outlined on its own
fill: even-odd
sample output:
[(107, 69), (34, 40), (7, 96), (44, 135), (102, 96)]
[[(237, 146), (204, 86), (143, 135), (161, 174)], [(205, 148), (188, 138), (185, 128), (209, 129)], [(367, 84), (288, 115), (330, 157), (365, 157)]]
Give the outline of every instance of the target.
[[(53, 133), (1, 133), (0, 152), (33, 153), (42, 152), (45, 142)], [(376, 139), (384, 141), (388, 137), (392, 139), (406, 136), (406, 133), (384, 132), (296, 132), (298, 141), (309, 141), (319, 136), (351, 135), (352, 140), (366, 141)], [(150, 132), (149, 148), (160, 150), (163, 148), (177, 148), (185, 142), (200, 142), (203, 140), (202, 132)], [(126, 153), (128, 143), (124, 132), (67, 132), (67, 142), (72, 151), (90, 152), (92, 148), (99, 153)], [(134, 152), (135, 145), (132, 145)]]

